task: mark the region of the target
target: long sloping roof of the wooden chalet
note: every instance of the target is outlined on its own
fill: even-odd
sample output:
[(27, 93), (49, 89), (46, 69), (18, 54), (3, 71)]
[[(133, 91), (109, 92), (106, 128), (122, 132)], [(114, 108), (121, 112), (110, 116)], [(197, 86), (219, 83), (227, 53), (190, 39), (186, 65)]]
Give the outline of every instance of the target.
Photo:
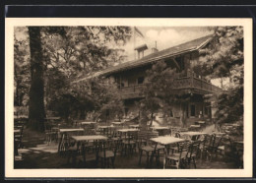
[[(161, 51), (149, 54), (147, 56), (144, 56), (141, 59), (137, 59), (137, 60), (133, 60), (133, 61), (128, 61), (116, 66), (111, 66), (108, 67), (102, 71), (99, 71), (97, 73), (95, 73), (95, 77), (96, 76), (105, 76), (105, 75), (109, 75), (112, 73), (117, 73), (117, 72), (121, 72), (124, 70), (128, 70), (128, 69), (132, 69), (132, 68), (136, 68), (139, 66), (143, 66), (143, 65), (147, 65), (150, 64), (156, 60), (160, 60), (160, 59), (164, 59), (164, 58), (168, 58), (171, 56), (175, 56), (175, 55), (179, 55), (182, 53), (186, 53), (186, 52), (191, 52), (194, 50), (198, 50), (199, 48), (202, 48), (203, 46), (205, 46), (213, 37), (213, 34), (209, 34), (194, 40), (190, 40), (188, 42), (184, 42), (182, 44), (173, 46), (173, 47), (169, 47), (166, 49), (163, 49)], [(93, 76), (93, 77), (94, 77)], [(91, 76), (92, 77), (92, 76)], [(85, 80), (81, 79), (79, 81)], [(77, 81), (78, 82), (78, 81)]]

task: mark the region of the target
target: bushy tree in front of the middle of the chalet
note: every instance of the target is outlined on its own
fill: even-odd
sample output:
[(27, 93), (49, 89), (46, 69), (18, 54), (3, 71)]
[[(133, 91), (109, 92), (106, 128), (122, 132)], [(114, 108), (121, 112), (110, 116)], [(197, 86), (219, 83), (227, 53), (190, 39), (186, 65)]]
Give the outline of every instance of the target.
[[(143, 90), (145, 98), (141, 100), (141, 110), (151, 115), (151, 125), (154, 113), (159, 111), (169, 113), (173, 103), (183, 104), (189, 97), (183, 91), (175, 90), (173, 81), (178, 78), (175, 69), (167, 67), (164, 61), (157, 62), (147, 71), (147, 83)], [(185, 123), (185, 118), (182, 118)]]

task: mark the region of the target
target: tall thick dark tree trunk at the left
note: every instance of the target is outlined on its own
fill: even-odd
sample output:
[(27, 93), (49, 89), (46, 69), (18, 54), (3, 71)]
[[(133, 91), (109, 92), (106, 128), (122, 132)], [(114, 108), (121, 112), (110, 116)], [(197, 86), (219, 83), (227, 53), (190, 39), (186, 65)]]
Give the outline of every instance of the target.
[(43, 62), (40, 28), (29, 27), (31, 47), (31, 90), (29, 102), (29, 124), (36, 131), (44, 130)]

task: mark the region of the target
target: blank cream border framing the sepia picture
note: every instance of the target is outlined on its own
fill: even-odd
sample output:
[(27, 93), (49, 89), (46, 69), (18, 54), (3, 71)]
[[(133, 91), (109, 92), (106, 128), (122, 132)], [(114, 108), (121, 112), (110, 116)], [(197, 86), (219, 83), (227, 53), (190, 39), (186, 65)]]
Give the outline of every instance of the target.
[[(244, 27), (244, 169), (14, 169), (13, 86), (14, 27), (19, 26), (156, 26)], [(11, 177), (252, 177), (252, 19), (115, 19), (6, 18), (5, 19), (5, 176)]]

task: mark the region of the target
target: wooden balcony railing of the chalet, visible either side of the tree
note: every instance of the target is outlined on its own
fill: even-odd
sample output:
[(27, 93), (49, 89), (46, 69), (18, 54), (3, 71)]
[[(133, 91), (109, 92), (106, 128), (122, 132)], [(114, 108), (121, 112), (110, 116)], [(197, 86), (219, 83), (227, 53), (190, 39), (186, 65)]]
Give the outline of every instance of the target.
[[(137, 85), (132, 87), (123, 87), (120, 88), (120, 92), (122, 94), (122, 98), (138, 98), (143, 97), (142, 89), (144, 85)], [(175, 90), (185, 90), (193, 93), (199, 94), (208, 94), (222, 91), (222, 89), (212, 85), (211, 83), (206, 82), (205, 80), (199, 78), (178, 78), (173, 82), (173, 86)]]

